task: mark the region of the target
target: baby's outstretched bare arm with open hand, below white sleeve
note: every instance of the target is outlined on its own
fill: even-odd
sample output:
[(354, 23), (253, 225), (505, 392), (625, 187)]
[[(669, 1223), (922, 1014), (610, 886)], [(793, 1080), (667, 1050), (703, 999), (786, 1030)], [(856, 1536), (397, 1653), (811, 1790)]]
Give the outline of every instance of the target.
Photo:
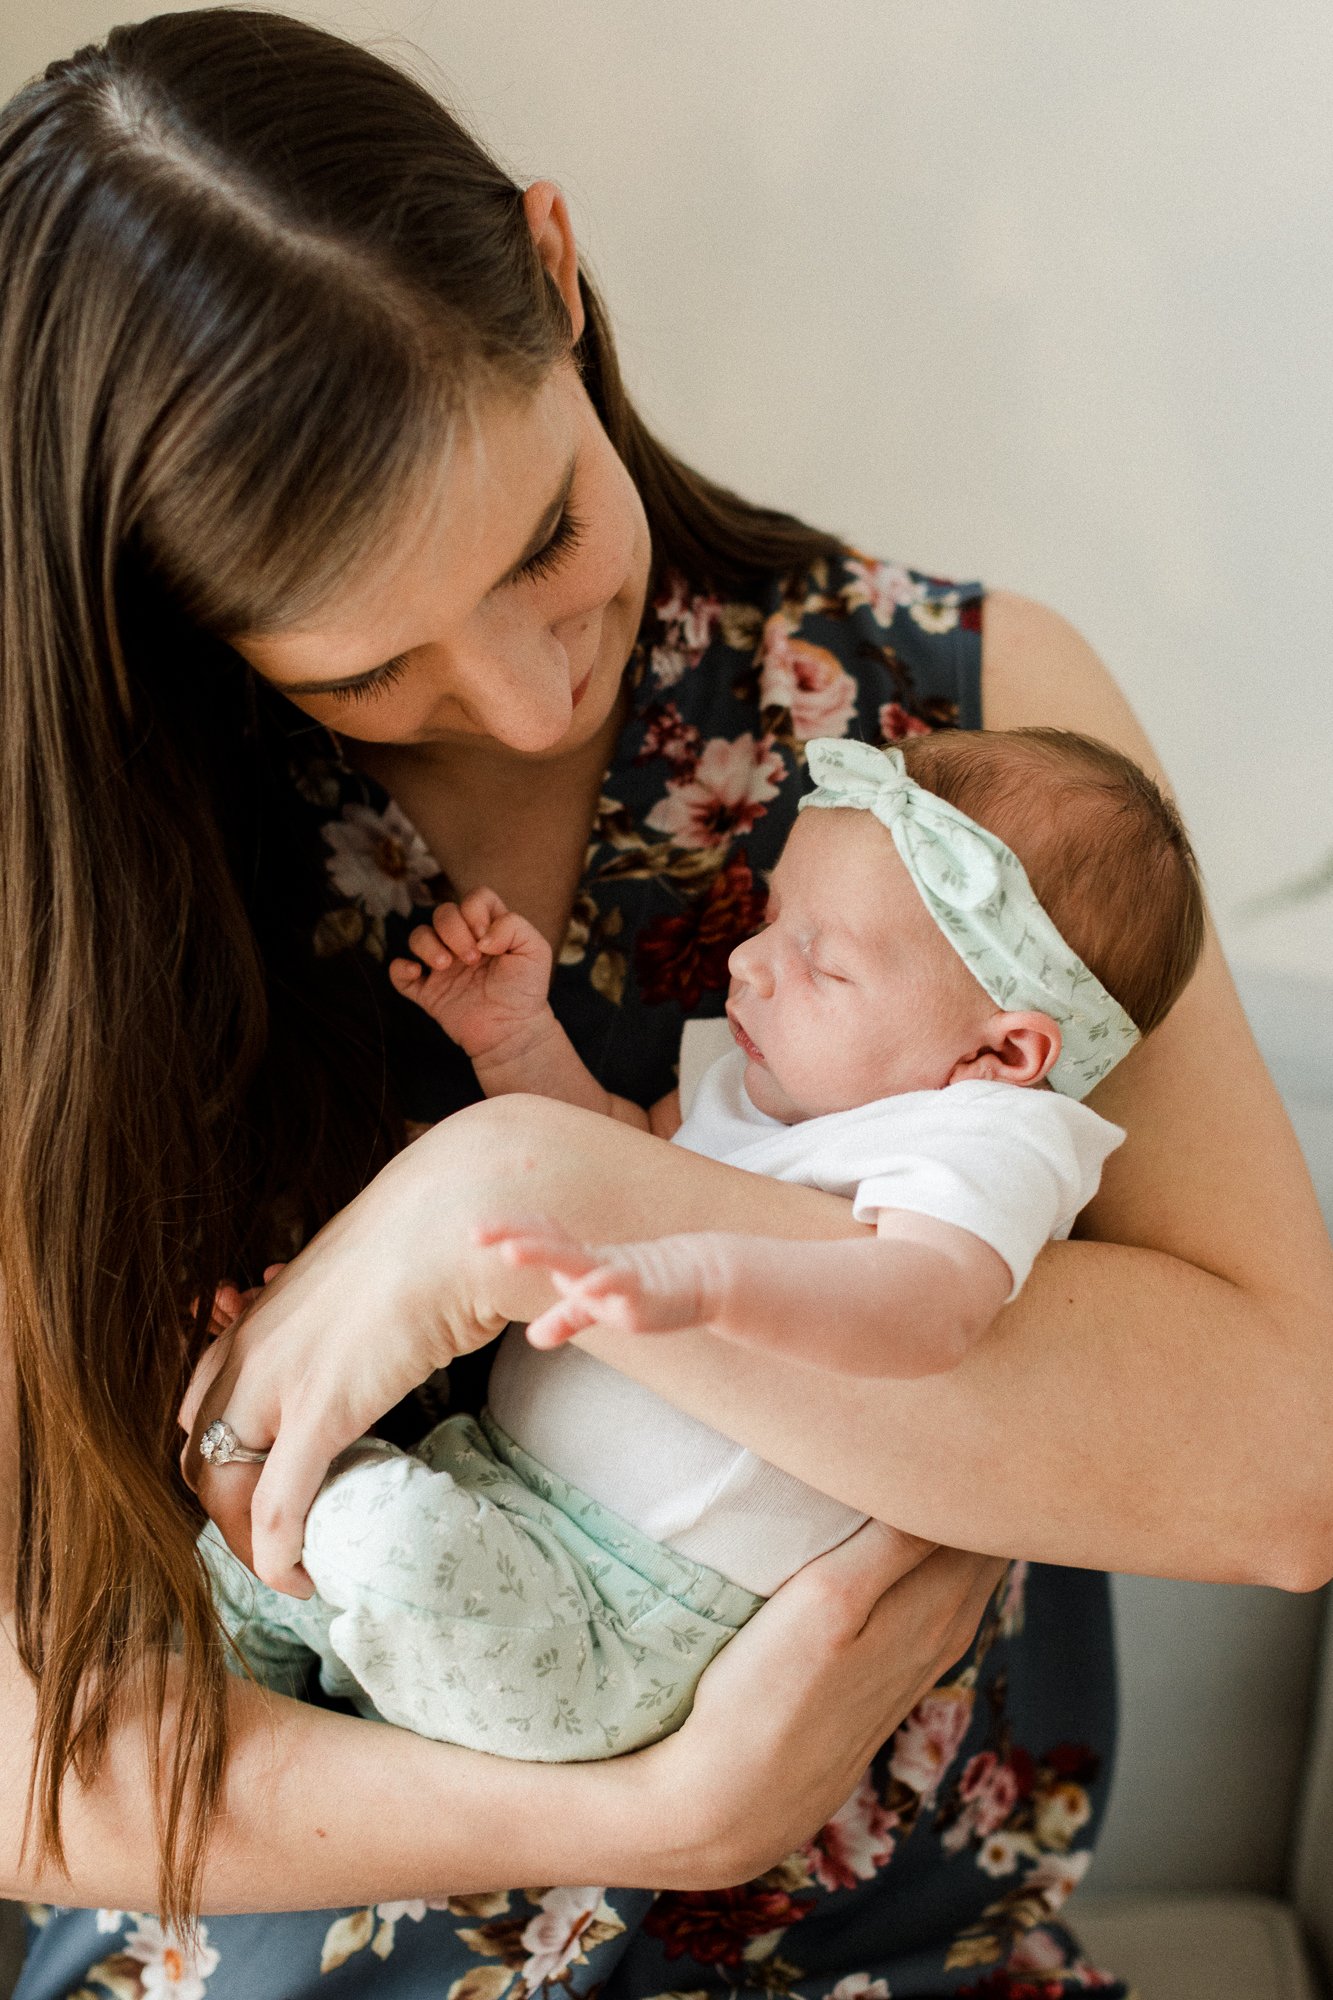
[(550, 1226), (482, 1232), (512, 1264), (538, 1264), (562, 1294), (528, 1326), (554, 1348), (584, 1326), (669, 1334), (687, 1326), (857, 1376), (957, 1366), (1013, 1290), (991, 1244), (953, 1222), (881, 1210), (863, 1242), (785, 1242), (701, 1232), (584, 1246)]

